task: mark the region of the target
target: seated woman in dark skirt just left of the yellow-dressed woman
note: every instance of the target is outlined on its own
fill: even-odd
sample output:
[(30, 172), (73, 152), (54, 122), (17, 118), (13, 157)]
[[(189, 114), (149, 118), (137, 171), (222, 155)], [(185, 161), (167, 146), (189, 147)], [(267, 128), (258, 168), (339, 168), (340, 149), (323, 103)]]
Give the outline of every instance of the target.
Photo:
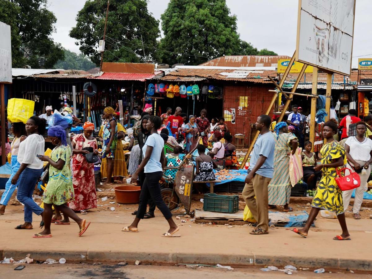
[(305, 142), (305, 150), (302, 151), (302, 169), (304, 170), (304, 181), (307, 183), (308, 189), (315, 189), (317, 183), (317, 174), (314, 167), (317, 165), (315, 153), (311, 152), (311, 141)]

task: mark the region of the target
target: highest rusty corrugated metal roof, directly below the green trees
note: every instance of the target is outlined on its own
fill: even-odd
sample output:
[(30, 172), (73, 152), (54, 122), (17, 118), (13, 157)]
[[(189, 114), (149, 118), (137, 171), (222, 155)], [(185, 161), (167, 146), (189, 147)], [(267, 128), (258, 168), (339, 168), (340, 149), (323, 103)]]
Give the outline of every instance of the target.
[(228, 67), (276, 67), (278, 64), (278, 59), (291, 59), (291, 57), (287, 55), (226, 55), (200, 65)]

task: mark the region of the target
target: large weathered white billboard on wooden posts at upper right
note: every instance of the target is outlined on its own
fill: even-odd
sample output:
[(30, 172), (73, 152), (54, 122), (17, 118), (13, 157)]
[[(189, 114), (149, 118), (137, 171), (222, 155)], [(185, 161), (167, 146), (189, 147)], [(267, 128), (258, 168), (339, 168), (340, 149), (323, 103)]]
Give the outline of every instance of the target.
[(299, 0), (296, 61), (350, 76), (355, 0)]

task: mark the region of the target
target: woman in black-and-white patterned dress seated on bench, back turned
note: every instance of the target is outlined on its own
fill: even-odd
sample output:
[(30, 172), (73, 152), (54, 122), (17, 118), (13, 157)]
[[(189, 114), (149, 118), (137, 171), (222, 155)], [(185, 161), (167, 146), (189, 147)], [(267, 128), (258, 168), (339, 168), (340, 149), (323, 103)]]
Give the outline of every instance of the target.
[(199, 156), (196, 157), (196, 176), (194, 181), (208, 181), (215, 180), (213, 169), (217, 168), (217, 164), (205, 154), (205, 147), (202, 144), (198, 145)]

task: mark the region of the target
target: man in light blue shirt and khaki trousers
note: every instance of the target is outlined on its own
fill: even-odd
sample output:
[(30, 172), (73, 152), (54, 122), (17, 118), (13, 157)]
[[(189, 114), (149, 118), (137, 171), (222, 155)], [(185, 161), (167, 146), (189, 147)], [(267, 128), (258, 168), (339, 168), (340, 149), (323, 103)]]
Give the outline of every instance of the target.
[[(273, 177), (275, 140), (269, 131), (271, 118), (260, 115), (256, 121), (256, 129), (260, 131), (253, 147), (250, 166), (243, 189), (243, 198), (254, 219), (257, 227), (250, 234), (269, 233), (269, 202), (267, 187)], [(256, 196), (256, 198), (254, 198)]]

